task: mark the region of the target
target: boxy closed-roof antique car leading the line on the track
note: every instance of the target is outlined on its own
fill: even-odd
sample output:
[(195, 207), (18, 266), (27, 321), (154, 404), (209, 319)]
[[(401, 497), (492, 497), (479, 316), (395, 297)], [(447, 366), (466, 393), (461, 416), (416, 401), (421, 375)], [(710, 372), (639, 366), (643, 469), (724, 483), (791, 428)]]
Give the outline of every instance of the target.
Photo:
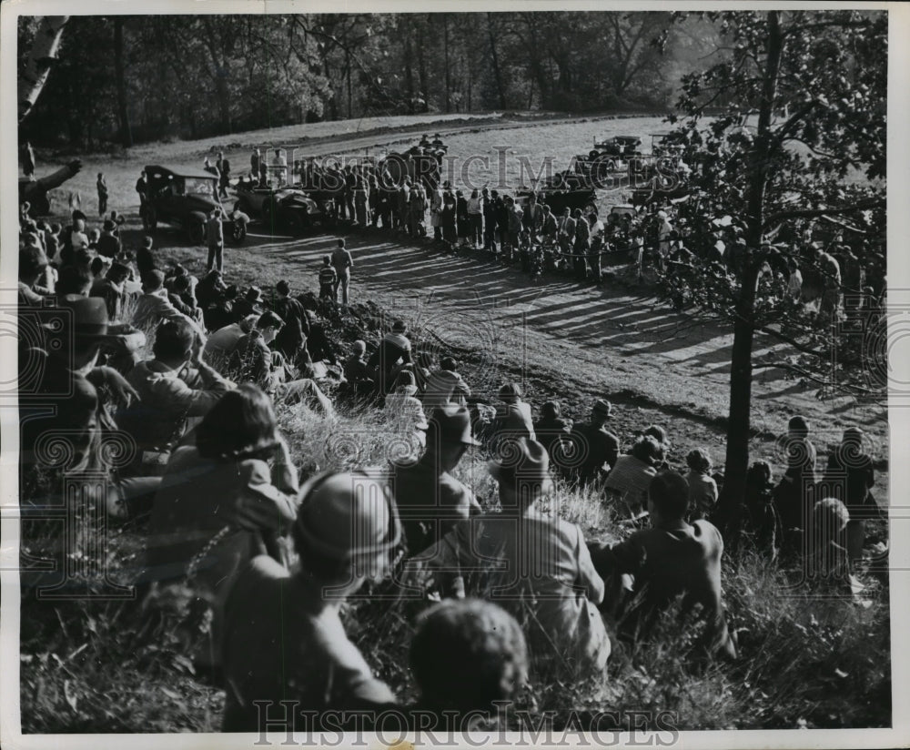
[[(142, 227), (148, 234), (158, 224), (171, 224), (187, 232), (194, 245), (206, 239), (206, 222), (216, 208), (225, 210), (216, 198), (216, 177), (195, 167), (149, 165), (146, 201), (139, 209)], [(235, 241), (247, 236), (247, 220), (240, 212), (227, 214), (225, 235)]]

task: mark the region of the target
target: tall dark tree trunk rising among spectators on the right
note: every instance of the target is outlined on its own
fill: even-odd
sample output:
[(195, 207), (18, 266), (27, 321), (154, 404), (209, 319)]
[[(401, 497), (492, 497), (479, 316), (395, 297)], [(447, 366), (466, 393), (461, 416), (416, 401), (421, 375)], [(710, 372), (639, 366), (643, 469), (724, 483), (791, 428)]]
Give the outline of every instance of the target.
[(740, 508), (745, 496), (745, 474), (749, 468), (749, 436), (752, 412), (752, 345), (754, 338), (755, 288), (762, 258), (764, 194), (767, 187), (768, 159), (771, 155), (771, 122), (777, 79), (780, 74), (784, 36), (777, 11), (768, 13), (767, 60), (764, 68), (758, 131), (750, 159), (747, 193), (746, 247), (749, 258), (741, 279), (740, 299), (733, 324), (733, 358), (730, 370), (730, 417), (727, 422), (727, 452), (723, 470), (723, 492), (718, 512), (730, 541), (739, 532)]

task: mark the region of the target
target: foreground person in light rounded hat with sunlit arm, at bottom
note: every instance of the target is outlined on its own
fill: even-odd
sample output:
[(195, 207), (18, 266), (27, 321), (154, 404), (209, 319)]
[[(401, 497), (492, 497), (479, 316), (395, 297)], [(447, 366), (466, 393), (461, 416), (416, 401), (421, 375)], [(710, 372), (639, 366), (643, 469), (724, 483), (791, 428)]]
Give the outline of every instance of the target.
[(351, 594), (389, 569), (401, 536), (389, 488), (366, 472), (323, 473), (300, 489), (298, 506), (294, 572), (260, 554), (227, 598), (223, 732), (275, 731), (281, 701), (291, 702), (288, 730), (304, 726), (292, 715), (300, 712), (319, 730), (327, 711), (396, 704), (339, 617)]

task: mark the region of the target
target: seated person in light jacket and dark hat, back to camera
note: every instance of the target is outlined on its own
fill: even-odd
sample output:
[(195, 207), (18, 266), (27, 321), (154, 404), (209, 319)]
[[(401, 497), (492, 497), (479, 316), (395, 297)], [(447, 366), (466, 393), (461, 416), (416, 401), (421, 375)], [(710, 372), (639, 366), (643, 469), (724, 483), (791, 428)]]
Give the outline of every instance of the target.
[(551, 494), (550, 458), (519, 438), (490, 461), (501, 512), (460, 522), (420, 555), (444, 593), (478, 595), (521, 623), (537, 671), (561, 679), (601, 673), (610, 638), (597, 605), (604, 584), (581, 529), (536, 507)]

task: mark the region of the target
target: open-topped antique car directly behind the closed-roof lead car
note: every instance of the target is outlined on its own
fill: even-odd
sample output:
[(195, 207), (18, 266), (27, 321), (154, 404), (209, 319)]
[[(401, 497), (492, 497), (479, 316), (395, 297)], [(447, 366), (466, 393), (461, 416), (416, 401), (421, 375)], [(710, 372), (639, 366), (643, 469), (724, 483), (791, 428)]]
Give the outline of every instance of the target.
[(235, 208), (257, 218), (270, 228), (284, 228), (302, 234), (317, 225), (328, 226), (334, 210), (325, 191), (299, 184), (285, 187), (261, 187), (241, 180), (237, 184)]

